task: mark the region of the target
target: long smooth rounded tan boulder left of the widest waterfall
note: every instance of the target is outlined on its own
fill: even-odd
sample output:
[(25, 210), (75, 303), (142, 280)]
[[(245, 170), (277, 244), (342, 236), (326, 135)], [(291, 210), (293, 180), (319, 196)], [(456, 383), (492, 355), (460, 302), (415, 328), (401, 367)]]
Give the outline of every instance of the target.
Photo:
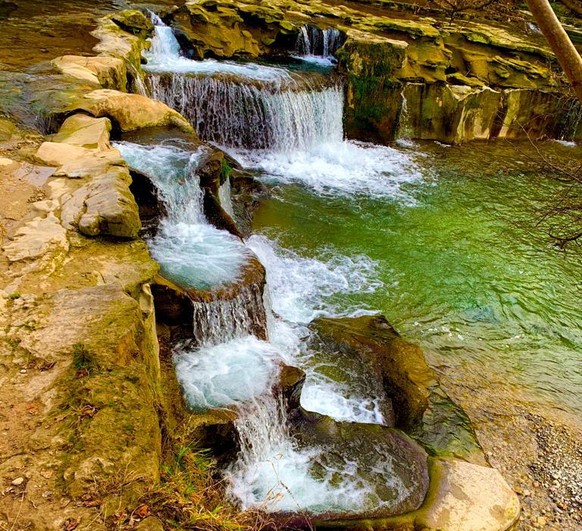
[(126, 94), (108, 89), (95, 90), (78, 100), (74, 108), (95, 117), (107, 116), (115, 121), (122, 131), (175, 126), (188, 133), (194, 132), (188, 121), (178, 112), (164, 103), (139, 94)]

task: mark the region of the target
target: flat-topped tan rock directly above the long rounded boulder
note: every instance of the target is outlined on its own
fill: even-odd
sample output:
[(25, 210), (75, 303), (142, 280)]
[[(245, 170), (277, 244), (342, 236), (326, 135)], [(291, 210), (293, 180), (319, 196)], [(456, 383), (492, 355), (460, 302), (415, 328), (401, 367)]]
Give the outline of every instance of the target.
[(118, 57), (82, 57), (63, 55), (52, 61), (63, 74), (101, 85), (103, 88), (125, 91), (127, 89), (127, 69)]

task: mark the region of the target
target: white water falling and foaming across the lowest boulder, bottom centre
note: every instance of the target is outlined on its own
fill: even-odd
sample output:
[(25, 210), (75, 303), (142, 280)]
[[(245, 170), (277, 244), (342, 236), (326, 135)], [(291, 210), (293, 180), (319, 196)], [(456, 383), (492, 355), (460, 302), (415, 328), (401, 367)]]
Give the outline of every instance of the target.
[[(242, 457), (226, 477), (229, 493), (243, 509), (361, 513), (392, 506), (407, 496), (390, 455), (379, 448), (374, 462), (349, 458), (332, 462), (325, 447), (300, 449), (286, 428), (283, 409), (275, 397), (262, 395), (243, 406), (235, 422)], [(363, 468), (371, 473), (361, 474)], [(384, 501), (375, 492), (382, 483), (382, 488), (396, 493), (394, 500)]]

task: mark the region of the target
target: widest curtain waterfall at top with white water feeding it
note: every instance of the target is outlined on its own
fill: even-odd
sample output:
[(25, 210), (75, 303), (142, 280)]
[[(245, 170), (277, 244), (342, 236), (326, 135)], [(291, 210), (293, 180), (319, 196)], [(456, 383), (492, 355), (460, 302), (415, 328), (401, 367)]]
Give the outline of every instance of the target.
[(191, 61), (179, 55), (171, 28), (160, 25), (145, 58), (152, 97), (188, 118), (206, 141), (288, 152), (343, 140), (343, 89), (330, 76)]

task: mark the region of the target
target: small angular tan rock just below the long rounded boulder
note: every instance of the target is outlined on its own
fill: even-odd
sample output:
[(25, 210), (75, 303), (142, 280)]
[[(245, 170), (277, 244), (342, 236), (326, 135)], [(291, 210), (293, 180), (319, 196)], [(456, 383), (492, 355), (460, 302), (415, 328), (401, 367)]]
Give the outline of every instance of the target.
[(79, 146), (85, 149), (107, 151), (111, 121), (108, 118), (92, 118), (86, 114), (69, 116), (61, 125), (59, 132), (53, 135), (52, 141)]

